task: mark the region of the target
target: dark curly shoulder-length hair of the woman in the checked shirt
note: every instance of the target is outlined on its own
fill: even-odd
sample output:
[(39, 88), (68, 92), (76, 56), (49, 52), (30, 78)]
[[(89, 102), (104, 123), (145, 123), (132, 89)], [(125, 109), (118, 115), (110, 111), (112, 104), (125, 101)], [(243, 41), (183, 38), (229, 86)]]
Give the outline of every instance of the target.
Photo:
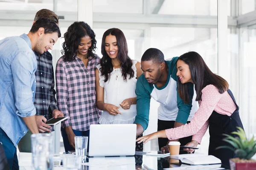
[(85, 36), (89, 36), (92, 39), (92, 45), (88, 49), (87, 55), (90, 57), (96, 56), (94, 53), (97, 41), (93, 30), (87, 23), (76, 21), (67, 28), (67, 32), (64, 34), (65, 42), (62, 43), (63, 50), (61, 50), (61, 54), (64, 54), (65, 62), (75, 61), (81, 38)]

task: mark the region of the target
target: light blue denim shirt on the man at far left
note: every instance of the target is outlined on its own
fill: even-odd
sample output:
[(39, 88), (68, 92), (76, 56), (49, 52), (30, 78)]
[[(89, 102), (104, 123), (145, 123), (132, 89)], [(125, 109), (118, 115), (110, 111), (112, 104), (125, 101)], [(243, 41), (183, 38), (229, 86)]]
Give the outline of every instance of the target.
[(37, 62), (26, 34), (0, 40), (0, 127), (15, 147), (28, 128), (22, 117), (36, 113)]

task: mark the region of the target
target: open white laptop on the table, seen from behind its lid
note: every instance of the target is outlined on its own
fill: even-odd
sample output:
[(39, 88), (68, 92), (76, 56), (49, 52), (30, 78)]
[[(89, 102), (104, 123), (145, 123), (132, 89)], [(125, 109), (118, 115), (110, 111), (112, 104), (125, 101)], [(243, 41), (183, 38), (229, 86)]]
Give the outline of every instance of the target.
[(136, 124), (90, 125), (89, 156), (135, 155)]

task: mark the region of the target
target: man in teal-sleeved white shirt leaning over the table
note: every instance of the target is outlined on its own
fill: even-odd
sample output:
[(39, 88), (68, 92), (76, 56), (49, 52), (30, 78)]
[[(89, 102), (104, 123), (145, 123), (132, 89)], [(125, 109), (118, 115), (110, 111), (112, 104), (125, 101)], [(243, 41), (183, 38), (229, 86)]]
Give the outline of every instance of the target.
[[(141, 58), (143, 74), (138, 78), (136, 85), (137, 116), (134, 123), (137, 124), (137, 136), (148, 127), (149, 108), (151, 97), (160, 103), (158, 108), (157, 130), (164, 130), (184, 125), (192, 119), (198, 109), (195, 100), (193, 84), (190, 84), (191, 97), (189, 103), (184, 103), (177, 93), (177, 68), (178, 57), (165, 60), (162, 51), (157, 48), (149, 48)], [(193, 105), (193, 106), (192, 106)], [(180, 139), (181, 145), (191, 142), (192, 136)], [(158, 139), (159, 150), (165, 146), (168, 139)]]

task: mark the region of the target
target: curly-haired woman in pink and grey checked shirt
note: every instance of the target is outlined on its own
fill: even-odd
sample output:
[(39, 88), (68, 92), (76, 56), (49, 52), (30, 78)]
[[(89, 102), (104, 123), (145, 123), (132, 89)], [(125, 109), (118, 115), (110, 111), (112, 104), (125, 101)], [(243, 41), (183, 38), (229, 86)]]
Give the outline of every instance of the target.
[[(57, 105), (64, 116), (61, 134), (65, 151), (74, 150), (74, 136), (88, 136), (90, 125), (97, 124), (95, 69), (99, 56), (95, 53), (96, 39), (87, 23), (75, 22), (64, 34), (64, 54), (56, 66)], [(88, 142), (89, 148), (89, 142)]]

